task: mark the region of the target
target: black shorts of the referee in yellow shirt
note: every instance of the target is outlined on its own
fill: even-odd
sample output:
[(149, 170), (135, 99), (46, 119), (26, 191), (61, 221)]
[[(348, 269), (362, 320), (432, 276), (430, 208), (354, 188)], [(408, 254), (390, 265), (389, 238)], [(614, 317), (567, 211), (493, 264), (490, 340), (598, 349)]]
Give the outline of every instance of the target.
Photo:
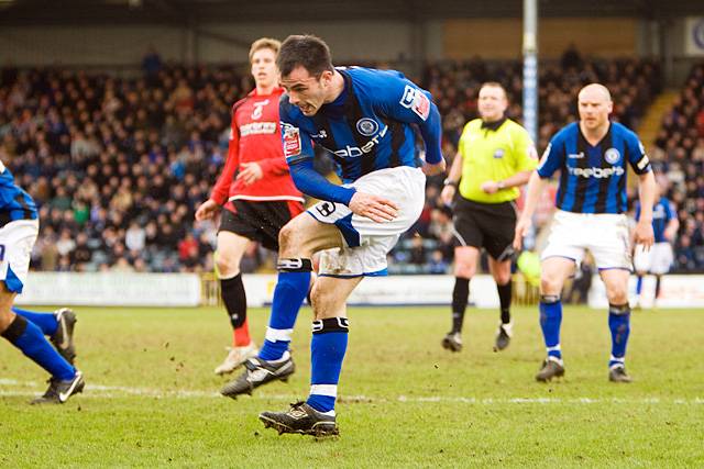
[(514, 254), (514, 202), (481, 203), (459, 196), (454, 200), (453, 222), (457, 246), (483, 247), (498, 261), (508, 260)]

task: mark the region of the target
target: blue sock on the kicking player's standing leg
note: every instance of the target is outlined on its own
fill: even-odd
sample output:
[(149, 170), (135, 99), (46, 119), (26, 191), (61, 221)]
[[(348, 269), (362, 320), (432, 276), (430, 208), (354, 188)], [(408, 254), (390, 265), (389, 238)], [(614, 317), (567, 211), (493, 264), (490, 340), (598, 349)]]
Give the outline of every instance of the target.
[(310, 340), (310, 395), (307, 404), (318, 412), (333, 412), (338, 381), (348, 349), (346, 317), (314, 321)]

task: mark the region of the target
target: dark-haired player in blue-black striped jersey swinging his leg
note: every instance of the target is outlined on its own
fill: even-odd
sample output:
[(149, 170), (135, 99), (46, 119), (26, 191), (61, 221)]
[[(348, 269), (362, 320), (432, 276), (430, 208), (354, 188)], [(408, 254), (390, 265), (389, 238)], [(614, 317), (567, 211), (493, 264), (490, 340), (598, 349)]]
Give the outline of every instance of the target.
[[(386, 275), (386, 254), (418, 219), (426, 175), (444, 171), (441, 123), (430, 96), (398, 71), (334, 68), (315, 36), (289, 36), (277, 58), (284, 155), (296, 186), (322, 202), (280, 232), (278, 282), (266, 340), (224, 395), (251, 393), (294, 370), (290, 333), (308, 291), (311, 256), (320, 252), (312, 292), (311, 386), (306, 402), (260, 420), (279, 433), (336, 435), (334, 403), (348, 345), (346, 299), (364, 277)], [(417, 125), (426, 145), (416, 166)], [(312, 168), (316, 145), (340, 166), (342, 186)]]

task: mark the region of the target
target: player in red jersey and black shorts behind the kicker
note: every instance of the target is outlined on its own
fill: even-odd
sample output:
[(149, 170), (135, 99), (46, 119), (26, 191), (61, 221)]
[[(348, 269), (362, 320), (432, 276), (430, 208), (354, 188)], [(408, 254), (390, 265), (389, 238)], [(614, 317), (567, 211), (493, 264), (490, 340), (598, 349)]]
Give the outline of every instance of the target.
[(280, 43), (263, 37), (250, 48), (256, 88), (232, 107), (228, 159), (210, 199), (196, 211), (196, 220), (215, 217), (223, 206), (218, 231), (216, 265), (220, 291), (234, 331), (233, 347), (216, 373), (233, 371), (257, 354), (246, 322), (246, 295), (240, 261), (250, 243), (278, 250), (278, 232), (304, 210), (282, 152), (278, 125), (276, 55)]

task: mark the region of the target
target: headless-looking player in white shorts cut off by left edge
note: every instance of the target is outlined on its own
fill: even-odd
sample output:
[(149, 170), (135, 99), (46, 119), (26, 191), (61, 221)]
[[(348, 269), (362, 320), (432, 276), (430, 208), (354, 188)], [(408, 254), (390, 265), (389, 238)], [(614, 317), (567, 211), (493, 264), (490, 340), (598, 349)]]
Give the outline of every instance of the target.
[[(0, 335), (32, 361), (52, 375), (46, 392), (33, 404), (63, 404), (84, 390), (84, 376), (69, 362), (75, 356), (73, 328), (76, 317), (68, 310), (41, 314), (12, 310), (22, 292), (30, 267), (30, 254), (40, 230), (32, 198), (18, 186), (0, 163)], [(44, 335), (52, 337), (62, 355)], [(66, 357), (66, 358), (65, 358)]]

